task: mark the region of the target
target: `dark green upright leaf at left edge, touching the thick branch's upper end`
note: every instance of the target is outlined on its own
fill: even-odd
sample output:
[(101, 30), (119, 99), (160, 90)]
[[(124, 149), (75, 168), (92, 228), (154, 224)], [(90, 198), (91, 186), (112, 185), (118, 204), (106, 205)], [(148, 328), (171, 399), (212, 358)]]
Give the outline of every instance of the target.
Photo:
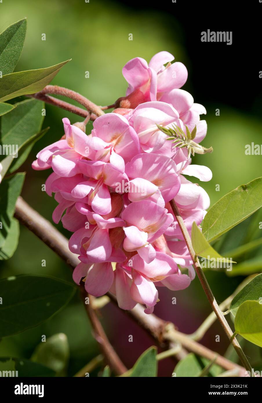
[(17, 197), (20, 195), (25, 173), (19, 172), (0, 183), (0, 247), (3, 247), (12, 224)]

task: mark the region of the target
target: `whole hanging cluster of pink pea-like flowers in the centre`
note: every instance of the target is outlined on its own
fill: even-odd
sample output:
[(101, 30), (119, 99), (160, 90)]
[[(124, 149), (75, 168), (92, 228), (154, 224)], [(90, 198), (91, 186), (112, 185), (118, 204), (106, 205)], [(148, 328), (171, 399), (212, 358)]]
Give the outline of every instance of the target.
[(129, 86), (120, 113), (96, 118), (90, 135), (64, 118), (65, 136), (32, 164), (53, 170), (46, 192), (58, 202), (54, 222), (62, 220), (73, 232), (69, 249), (80, 260), (75, 282), (84, 278), (86, 291), (96, 297), (110, 290), (125, 310), (142, 303), (148, 314), (158, 301), (157, 287), (185, 289), (195, 275), (169, 202), (175, 198), (189, 232), (210, 203), (204, 189), (184, 176), (208, 181), (210, 169), (191, 164), (187, 150), (174, 147), (156, 126), (184, 131), (196, 125), (197, 143), (206, 135), (200, 120), (206, 110), (179, 89), (187, 70), (169, 63), (173, 59), (160, 52), (149, 64), (130, 60), (123, 68)]

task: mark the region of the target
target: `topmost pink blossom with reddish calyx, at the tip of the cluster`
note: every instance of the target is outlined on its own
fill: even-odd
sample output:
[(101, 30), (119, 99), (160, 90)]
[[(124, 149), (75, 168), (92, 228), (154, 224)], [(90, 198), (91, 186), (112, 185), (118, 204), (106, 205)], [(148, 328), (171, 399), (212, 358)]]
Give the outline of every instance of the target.
[(120, 99), (120, 107), (135, 108), (143, 102), (158, 100), (166, 91), (182, 87), (187, 81), (187, 69), (180, 62), (171, 64), (173, 60), (174, 56), (168, 52), (157, 53), (149, 64), (140, 57), (129, 60), (123, 67), (123, 76), (129, 84), (127, 97)]

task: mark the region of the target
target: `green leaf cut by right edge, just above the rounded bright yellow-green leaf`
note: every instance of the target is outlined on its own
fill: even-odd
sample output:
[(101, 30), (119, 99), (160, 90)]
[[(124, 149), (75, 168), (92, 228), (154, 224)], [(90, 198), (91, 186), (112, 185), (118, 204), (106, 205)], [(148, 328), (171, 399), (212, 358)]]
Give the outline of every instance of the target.
[(258, 301), (260, 298), (262, 301), (262, 274), (258, 274), (258, 276), (252, 278), (252, 280), (235, 295), (229, 309), (233, 316), (236, 316), (239, 305), (247, 300)]

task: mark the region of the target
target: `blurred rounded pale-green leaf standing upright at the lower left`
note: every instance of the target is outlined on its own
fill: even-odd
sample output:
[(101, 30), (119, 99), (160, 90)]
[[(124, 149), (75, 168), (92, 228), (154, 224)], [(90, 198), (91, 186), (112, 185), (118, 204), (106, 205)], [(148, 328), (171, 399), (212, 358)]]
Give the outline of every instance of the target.
[(50, 368), (57, 376), (64, 376), (69, 361), (67, 335), (58, 333), (42, 341), (33, 352), (31, 360)]

